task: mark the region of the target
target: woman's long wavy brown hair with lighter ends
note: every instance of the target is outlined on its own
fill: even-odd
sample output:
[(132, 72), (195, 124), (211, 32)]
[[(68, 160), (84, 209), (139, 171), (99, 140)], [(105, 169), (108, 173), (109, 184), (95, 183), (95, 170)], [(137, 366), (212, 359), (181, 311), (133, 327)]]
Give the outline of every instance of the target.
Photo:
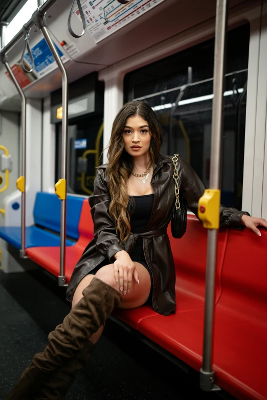
[(140, 115), (148, 123), (151, 132), (150, 163), (148, 168), (158, 160), (162, 145), (162, 130), (152, 108), (145, 102), (138, 100), (126, 103), (118, 112), (113, 123), (106, 168), (111, 198), (109, 214), (115, 221), (117, 234), (122, 242), (125, 242), (129, 237), (131, 228), (130, 216), (127, 210), (129, 201), (127, 180), (133, 170), (133, 158), (124, 149), (122, 133), (128, 117), (136, 115)]

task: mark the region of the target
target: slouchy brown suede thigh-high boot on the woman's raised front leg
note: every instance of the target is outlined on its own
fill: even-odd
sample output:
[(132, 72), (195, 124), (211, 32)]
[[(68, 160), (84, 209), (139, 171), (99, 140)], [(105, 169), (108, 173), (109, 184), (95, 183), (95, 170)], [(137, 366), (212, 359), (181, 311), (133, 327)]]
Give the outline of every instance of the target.
[(34, 356), (7, 400), (35, 400), (35, 395), (50, 379), (51, 373), (78, 354), (122, 299), (116, 289), (97, 277), (82, 294), (63, 323), (49, 334), (46, 348)]

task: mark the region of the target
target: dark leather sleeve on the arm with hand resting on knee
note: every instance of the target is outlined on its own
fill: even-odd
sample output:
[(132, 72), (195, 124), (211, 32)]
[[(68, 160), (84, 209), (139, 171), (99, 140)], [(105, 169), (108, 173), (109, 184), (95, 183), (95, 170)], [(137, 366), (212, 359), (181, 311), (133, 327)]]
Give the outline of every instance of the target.
[(117, 251), (124, 250), (124, 247), (117, 236), (115, 222), (109, 215), (110, 195), (102, 169), (97, 171), (94, 194), (88, 198), (88, 201), (91, 206), (97, 251), (113, 262), (113, 255)]

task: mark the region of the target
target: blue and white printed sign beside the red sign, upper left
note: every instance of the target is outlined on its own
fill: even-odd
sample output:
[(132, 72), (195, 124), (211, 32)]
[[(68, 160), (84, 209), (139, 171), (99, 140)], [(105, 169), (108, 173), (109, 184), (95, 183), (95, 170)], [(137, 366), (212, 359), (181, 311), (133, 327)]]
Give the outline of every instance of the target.
[[(56, 44), (55, 46), (62, 62), (68, 61), (69, 57), (65, 56)], [(34, 72), (37, 78), (41, 78), (57, 68), (57, 63), (49, 49), (46, 39), (43, 38), (40, 40), (39, 43), (31, 49), (31, 52), (34, 59)], [(24, 58), (29, 64), (31, 63), (29, 53), (27, 53)]]

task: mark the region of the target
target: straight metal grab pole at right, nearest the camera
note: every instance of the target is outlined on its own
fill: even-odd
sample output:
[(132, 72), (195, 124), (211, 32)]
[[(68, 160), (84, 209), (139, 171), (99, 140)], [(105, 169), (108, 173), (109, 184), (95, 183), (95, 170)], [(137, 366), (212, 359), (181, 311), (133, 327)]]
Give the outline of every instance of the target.
[[(206, 269), (206, 293), (205, 293), (205, 323), (203, 344), (203, 365), (201, 368), (200, 385), (203, 390), (219, 390), (214, 384), (213, 365), (213, 333), (214, 333), (214, 298), (215, 298), (215, 270), (217, 234), (219, 227), (219, 185), (220, 185), (220, 153), (221, 132), (223, 124), (224, 104), (224, 69), (225, 69), (225, 37), (227, 28), (228, 0), (217, 0), (216, 6), (216, 30), (214, 49), (214, 82), (213, 82), (213, 106), (212, 106), (212, 136), (211, 136), (211, 166), (210, 187), (208, 194), (214, 197), (210, 201), (213, 207), (214, 222), (211, 221), (211, 229), (208, 229), (207, 245), (207, 269)], [(205, 191), (206, 192), (206, 191)], [(216, 199), (215, 199), (216, 195)], [(205, 196), (205, 195), (204, 195)], [(199, 200), (199, 203), (203, 201)], [(208, 204), (208, 203), (207, 203)], [(205, 206), (201, 205), (200, 207)], [(205, 211), (201, 211), (205, 212)], [(216, 219), (216, 220), (215, 220)], [(214, 228), (216, 226), (216, 228)]]

